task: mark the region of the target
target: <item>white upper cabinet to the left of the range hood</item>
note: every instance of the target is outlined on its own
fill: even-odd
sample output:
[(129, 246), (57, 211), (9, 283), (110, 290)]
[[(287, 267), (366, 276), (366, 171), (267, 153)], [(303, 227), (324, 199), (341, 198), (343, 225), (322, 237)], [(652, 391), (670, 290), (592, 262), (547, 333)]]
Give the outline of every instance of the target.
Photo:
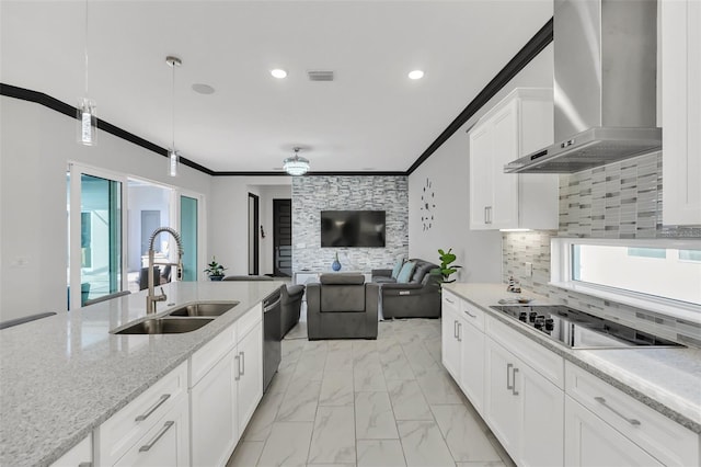
[(556, 229), (555, 174), (504, 173), (553, 143), (551, 89), (517, 88), (470, 130), (470, 228)]

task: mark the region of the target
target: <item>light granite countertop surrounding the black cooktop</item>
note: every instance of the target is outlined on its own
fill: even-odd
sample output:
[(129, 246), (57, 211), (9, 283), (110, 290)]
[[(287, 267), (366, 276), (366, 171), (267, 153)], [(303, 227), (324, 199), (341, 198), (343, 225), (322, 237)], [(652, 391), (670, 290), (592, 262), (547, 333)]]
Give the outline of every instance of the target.
[[(479, 306), (524, 335), (583, 367), (665, 417), (701, 434), (701, 349), (568, 349), (541, 332), (490, 308), (501, 298), (513, 298), (505, 284), (458, 284), (446, 289)], [(548, 298), (524, 292), (531, 305)]]

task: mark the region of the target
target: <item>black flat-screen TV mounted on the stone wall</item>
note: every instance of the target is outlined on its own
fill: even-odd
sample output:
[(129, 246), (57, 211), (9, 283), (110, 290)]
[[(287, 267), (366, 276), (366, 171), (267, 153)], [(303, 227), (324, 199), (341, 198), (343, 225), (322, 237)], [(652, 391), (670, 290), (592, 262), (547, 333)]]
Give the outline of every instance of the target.
[(322, 210), (321, 247), (384, 248), (384, 210)]

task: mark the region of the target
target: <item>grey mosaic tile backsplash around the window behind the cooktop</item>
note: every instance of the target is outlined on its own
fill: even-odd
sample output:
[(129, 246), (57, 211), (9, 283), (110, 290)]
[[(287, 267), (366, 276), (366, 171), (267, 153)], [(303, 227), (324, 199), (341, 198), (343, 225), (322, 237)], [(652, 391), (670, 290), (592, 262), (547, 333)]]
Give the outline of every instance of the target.
[[(701, 238), (700, 228), (663, 227), (662, 153), (611, 163), (560, 178), (560, 231), (504, 232), (503, 280), (555, 303), (701, 348), (701, 326), (653, 311), (552, 287), (551, 237)], [(532, 264), (532, 276), (527, 272)]]

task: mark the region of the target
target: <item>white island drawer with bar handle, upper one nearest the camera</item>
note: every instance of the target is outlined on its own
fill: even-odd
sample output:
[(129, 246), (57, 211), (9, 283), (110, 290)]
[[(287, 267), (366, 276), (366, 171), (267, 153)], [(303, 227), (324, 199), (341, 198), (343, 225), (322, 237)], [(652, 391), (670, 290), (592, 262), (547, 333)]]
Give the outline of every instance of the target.
[(100, 465), (113, 465), (186, 394), (185, 362), (100, 425)]

